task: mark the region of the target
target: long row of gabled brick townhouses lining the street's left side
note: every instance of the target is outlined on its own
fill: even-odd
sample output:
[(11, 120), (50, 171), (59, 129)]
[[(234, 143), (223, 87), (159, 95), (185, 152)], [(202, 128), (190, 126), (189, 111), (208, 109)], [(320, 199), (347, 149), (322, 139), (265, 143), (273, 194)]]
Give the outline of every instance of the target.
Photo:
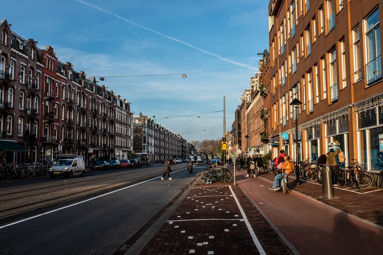
[(138, 129), (126, 99), (60, 62), (52, 47), (39, 49), (6, 20), (0, 34), (0, 162), (49, 162), (58, 154), (81, 155), (86, 164), (186, 156), (180, 135), (150, 119)]

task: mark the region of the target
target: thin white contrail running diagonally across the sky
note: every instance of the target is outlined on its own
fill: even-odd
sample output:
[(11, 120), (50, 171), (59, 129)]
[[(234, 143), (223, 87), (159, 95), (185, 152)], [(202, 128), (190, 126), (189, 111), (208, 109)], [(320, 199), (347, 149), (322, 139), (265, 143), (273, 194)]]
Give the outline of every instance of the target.
[(125, 18), (123, 18), (123, 17), (121, 17), (121, 16), (118, 16), (118, 15), (116, 15), (116, 14), (113, 14), (113, 13), (111, 13), (111, 12), (109, 12), (109, 11), (106, 11), (106, 10), (104, 10), (104, 9), (102, 9), (102, 8), (99, 8), (99, 7), (97, 7), (97, 6), (91, 5), (91, 4), (89, 4), (89, 3), (87, 3), (87, 2), (85, 2), (85, 1), (83, 1), (83, 0), (75, 0), (75, 1), (78, 2), (78, 3), (80, 3), (80, 4), (83, 4), (83, 5), (86, 5), (86, 6), (93, 7), (94, 9), (97, 9), (97, 10), (103, 12), (103, 13), (107, 13), (107, 14), (109, 14), (109, 15), (112, 15), (112, 16), (118, 18), (118, 19), (121, 19), (121, 20), (123, 20), (123, 21), (126, 21), (126, 22), (128, 22), (128, 23), (130, 23), (130, 24), (133, 24), (133, 25), (135, 25), (135, 26), (137, 26), (137, 27), (140, 27), (140, 28), (142, 28), (142, 29), (148, 30), (148, 31), (150, 31), (150, 32), (153, 32), (153, 33), (155, 33), (155, 34), (157, 34), (157, 35), (160, 35), (160, 36), (162, 36), (162, 37), (165, 37), (165, 38), (168, 38), (168, 39), (170, 39), (170, 40), (173, 40), (173, 41), (176, 41), (176, 42), (178, 42), (178, 43), (181, 43), (181, 44), (184, 44), (184, 45), (186, 45), (186, 46), (189, 46), (190, 48), (192, 48), (192, 49), (194, 49), (194, 50), (197, 50), (197, 51), (199, 51), (199, 52), (205, 53), (205, 54), (210, 55), (210, 56), (212, 56), (212, 57), (218, 58), (218, 59), (220, 59), (220, 60), (226, 61), (226, 62), (228, 62), (228, 63), (234, 64), (234, 65), (237, 65), (237, 66), (246, 67), (246, 68), (251, 69), (251, 70), (256, 70), (256, 69), (255, 69), (254, 67), (252, 67), (252, 66), (249, 66), (249, 65), (246, 65), (246, 64), (242, 64), (242, 63), (237, 62), (237, 61), (233, 61), (233, 60), (226, 59), (226, 58), (224, 58), (224, 57), (222, 57), (222, 56), (219, 56), (218, 54), (215, 54), (215, 53), (211, 53), (211, 52), (205, 51), (205, 50), (203, 50), (203, 49), (201, 49), (201, 48), (195, 47), (195, 46), (192, 45), (192, 44), (189, 44), (189, 43), (186, 43), (186, 42), (184, 42), (184, 41), (178, 40), (177, 38), (170, 37), (170, 36), (167, 36), (167, 35), (162, 34), (162, 33), (160, 33), (160, 32), (157, 32), (157, 31), (155, 31), (155, 30), (153, 30), (153, 29), (150, 29), (150, 28), (141, 26), (140, 24), (134, 23), (133, 21), (130, 21), (130, 20), (128, 20), (128, 19), (125, 19)]

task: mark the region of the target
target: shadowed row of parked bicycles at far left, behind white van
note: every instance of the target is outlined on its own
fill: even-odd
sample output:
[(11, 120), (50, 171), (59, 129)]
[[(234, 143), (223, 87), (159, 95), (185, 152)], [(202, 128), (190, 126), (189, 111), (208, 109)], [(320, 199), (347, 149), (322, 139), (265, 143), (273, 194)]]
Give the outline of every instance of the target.
[(48, 176), (49, 165), (43, 164), (2, 164), (0, 166), (0, 179), (32, 178), (35, 176)]

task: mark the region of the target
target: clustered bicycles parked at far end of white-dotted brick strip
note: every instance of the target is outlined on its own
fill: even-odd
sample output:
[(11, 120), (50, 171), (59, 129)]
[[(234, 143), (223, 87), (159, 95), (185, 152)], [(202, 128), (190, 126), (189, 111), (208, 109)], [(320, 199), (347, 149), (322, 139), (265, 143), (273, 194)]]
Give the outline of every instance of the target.
[(234, 180), (234, 172), (228, 170), (226, 165), (210, 164), (206, 169), (198, 172), (195, 179), (199, 184), (228, 183)]

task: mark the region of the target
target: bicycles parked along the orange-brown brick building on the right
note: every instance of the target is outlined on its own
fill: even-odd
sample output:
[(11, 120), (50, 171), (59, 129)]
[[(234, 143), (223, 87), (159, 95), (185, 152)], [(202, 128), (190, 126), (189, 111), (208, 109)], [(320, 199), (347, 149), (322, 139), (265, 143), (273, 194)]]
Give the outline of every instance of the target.
[[(296, 165), (296, 163), (294, 162)], [(338, 165), (337, 166), (337, 179), (339, 185), (341, 186), (350, 186), (352, 188), (367, 188), (374, 184), (377, 188), (382, 188), (383, 182), (383, 171), (367, 171), (365, 168), (365, 163), (355, 161), (349, 166)], [(274, 163), (270, 163), (266, 170), (269, 173), (276, 173), (277, 168), (274, 167)], [(295, 170), (292, 175), (295, 176), (297, 170)], [(311, 161), (310, 159), (299, 162), (299, 178), (305, 179), (309, 182), (322, 183), (321, 175), (321, 166), (316, 162)]]

